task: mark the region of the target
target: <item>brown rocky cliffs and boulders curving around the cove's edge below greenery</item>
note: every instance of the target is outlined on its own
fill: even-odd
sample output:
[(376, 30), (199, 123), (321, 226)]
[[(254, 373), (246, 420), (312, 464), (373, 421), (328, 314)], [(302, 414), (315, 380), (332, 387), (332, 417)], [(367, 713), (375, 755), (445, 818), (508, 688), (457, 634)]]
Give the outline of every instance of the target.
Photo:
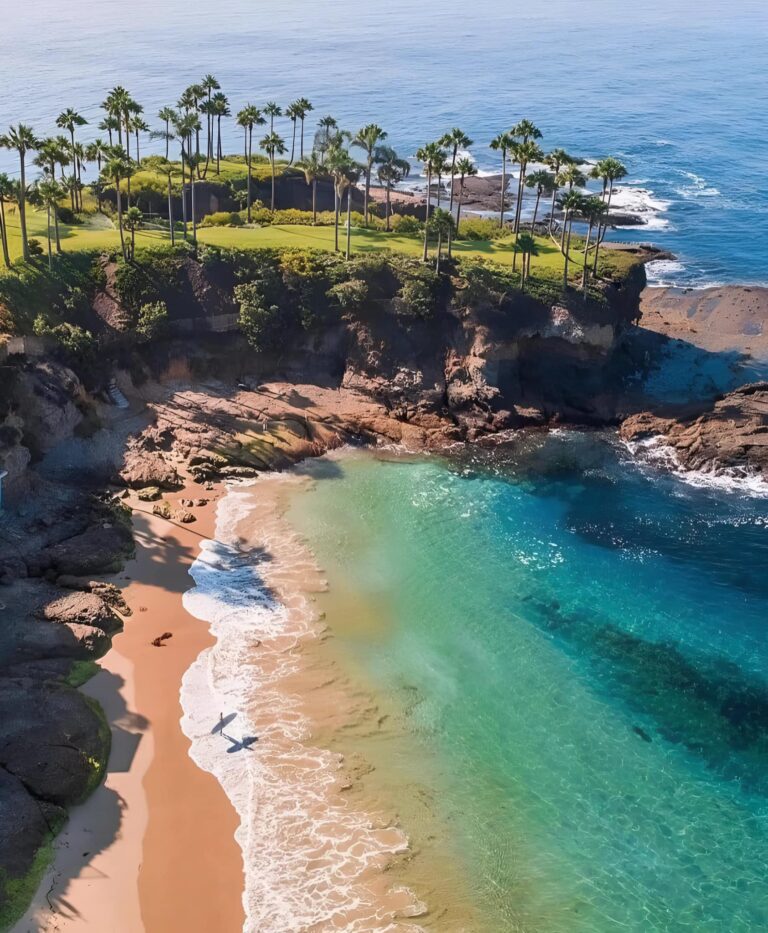
[[(23, 365), (16, 404), (0, 425), (0, 466), (9, 473), (0, 518), (0, 710), (8, 713), (0, 728), (0, 902), (8, 916), (18, 906), (10, 892), (16, 902), (29, 898), (66, 807), (98, 783), (109, 754), (103, 716), (76, 687), (130, 615), (108, 580), (133, 549), (126, 502), (143, 500), (163, 519), (188, 523), (212, 482), (344, 444), (445, 449), (563, 423), (623, 421), (622, 437), (663, 438), (686, 468), (768, 478), (768, 383), (688, 399), (676, 411), (625, 390), (632, 367), (654, 365), (642, 349), (649, 334), (665, 350), (679, 340), (665, 333), (668, 309), (687, 302), (679, 319), (696, 319), (689, 295), (666, 296), (662, 312), (658, 295), (646, 292), (641, 312), (643, 284), (642, 275), (630, 278), (605, 305), (579, 308), (519, 296), (512, 308), (481, 303), (433, 321), (361, 311), (256, 365), (238, 335), (205, 346), (175, 340), (147, 359), (140, 384), (118, 372), (130, 402), (119, 416), (66, 367)], [(742, 331), (731, 337), (742, 346), (758, 343), (768, 317), (765, 295), (753, 297), (746, 316), (731, 315)], [(697, 308), (712, 313), (711, 299), (699, 295)], [(743, 290), (721, 290), (717, 307), (743, 311), (743, 299)], [(711, 339), (710, 328), (702, 352), (716, 352), (705, 350), (704, 336)], [(199, 497), (172, 507), (167, 493), (187, 482)]]

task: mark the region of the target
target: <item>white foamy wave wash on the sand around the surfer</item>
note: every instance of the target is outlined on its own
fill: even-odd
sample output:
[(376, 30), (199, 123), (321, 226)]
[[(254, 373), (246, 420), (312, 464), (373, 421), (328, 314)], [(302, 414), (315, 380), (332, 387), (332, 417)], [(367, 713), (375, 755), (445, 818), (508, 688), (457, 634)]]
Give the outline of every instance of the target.
[[(318, 627), (305, 596), (292, 595), (286, 605), (264, 580), (265, 552), (299, 564), (307, 554), (282, 525), (279, 540), (270, 540), (278, 525), (265, 515), (262, 526), (259, 508), (251, 488), (228, 490), (216, 540), (203, 543), (190, 569), (195, 586), (184, 595), (216, 642), (184, 675), (182, 728), (190, 755), (218, 778), (240, 817), (244, 930), (418, 930), (395, 919), (421, 909), (409, 892), (391, 891), (401, 908), (382, 909), (362, 878), (404, 851), (406, 837), (344, 804), (336, 787), (340, 759), (312, 747), (300, 698), (286, 688), (286, 677), (300, 669), (298, 646)], [(262, 552), (237, 535), (243, 519), (253, 518), (265, 529)], [(258, 742), (244, 747), (254, 736)]]

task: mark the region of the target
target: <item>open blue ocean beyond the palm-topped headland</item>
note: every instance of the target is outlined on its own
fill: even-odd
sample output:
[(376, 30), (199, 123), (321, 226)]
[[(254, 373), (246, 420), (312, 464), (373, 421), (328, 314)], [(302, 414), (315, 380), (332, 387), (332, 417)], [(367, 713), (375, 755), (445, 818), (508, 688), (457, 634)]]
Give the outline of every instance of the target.
[[(642, 189), (632, 202), (654, 209), (648, 227), (621, 236), (652, 240), (680, 260), (658, 277), (768, 281), (761, 0), (4, 6), (2, 126), (25, 120), (46, 133), (67, 106), (97, 121), (116, 83), (153, 115), (211, 71), (234, 110), (304, 95), (351, 129), (379, 122), (408, 155), (460, 125), (490, 170), (490, 138), (530, 117), (545, 147), (626, 162)], [(282, 131), (290, 135), (289, 125)], [(234, 125), (227, 144), (239, 151)], [(0, 168), (15, 170), (7, 153)]]

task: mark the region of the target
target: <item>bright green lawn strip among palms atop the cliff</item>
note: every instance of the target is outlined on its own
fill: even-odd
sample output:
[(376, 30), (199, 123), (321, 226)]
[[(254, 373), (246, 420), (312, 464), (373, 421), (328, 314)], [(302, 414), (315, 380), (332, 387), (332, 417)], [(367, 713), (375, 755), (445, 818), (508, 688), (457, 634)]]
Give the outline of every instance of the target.
[[(6, 208), (8, 222), (9, 247), (11, 257), (21, 255), (21, 236), (18, 213), (10, 213)], [(112, 220), (103, 214), (90, 215), (83, 224), (73, 226), (59, 225), (61, 245), (65, 251), (119, 249), (120, 235)], [(46, 249), (46, 214), (27, 207), (27, 231), (30, 237), (40, 241)], [(129, 236), (126, 233), (126, 238)], [(272, 225), (265, 227), (206, 227), (198, 229), (201, 243), (215, 246), (235, 247), (239, 249), (264, 247), (296, 247), (299, 249), (333, 249), (333, 227)], [(345, 231), (339, 230), (339, 245), (345, 246)], [(168, 234), (159, 230), (141, 230), (136, 234), (137, 247), (157, 246), (169, 242)], [(538, 255), (531, 261), (534, 275), (542, 273), (552, 276), (562, 273), (563, 257), (557, 246), (546, 237), (537, 237)], [(390, 249), (409, 256), (420, 256), (422, 252), (421, 236), (404, 236), (385, 233), (381, 230), (354, 228), (352, 231), (353, 252), (368, 252)], [(458, 240), (453, 244), (454, 254), (464, 257), (483, 257), (503, 266), (512, 264), (512, 237), (498, 240)], [(571, 251), (572, 259), (578, 264), (579, 257)], [(610, 256), (612, 268), (620, 271), (621, 265), (630, 266), (634, 262), (631, 254), (613, 252)], [(574, 266), (574, 274), (578, 268)]]

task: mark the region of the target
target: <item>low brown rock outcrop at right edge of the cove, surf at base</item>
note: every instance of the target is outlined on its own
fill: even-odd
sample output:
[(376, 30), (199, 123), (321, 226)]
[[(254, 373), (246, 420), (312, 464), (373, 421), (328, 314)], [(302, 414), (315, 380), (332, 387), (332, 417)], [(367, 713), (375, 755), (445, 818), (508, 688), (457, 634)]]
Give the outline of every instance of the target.
[(729, 470), (768, 480), (768, 383), (743, 386), (692, 418), (631, 415), (620, 433), (626, 441), (658, 438), (688, 470)]

